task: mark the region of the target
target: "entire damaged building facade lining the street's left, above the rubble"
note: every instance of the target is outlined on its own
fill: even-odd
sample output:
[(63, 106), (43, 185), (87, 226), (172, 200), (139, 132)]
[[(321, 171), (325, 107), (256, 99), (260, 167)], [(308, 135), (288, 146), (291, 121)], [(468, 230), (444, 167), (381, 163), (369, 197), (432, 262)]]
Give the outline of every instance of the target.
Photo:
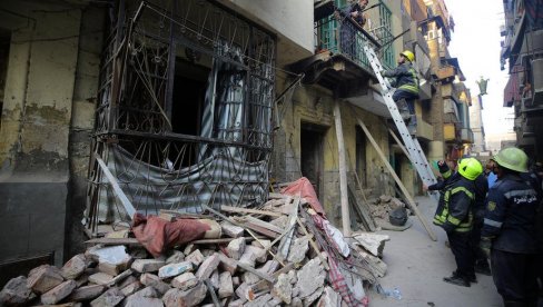
[[(149, 215), (259, 206), (302, 176), (340, 225), (339, 146), (358, 192), (395, 194), (358, 121), (417, 194), (359, 47), (388, 68), (415, 52), (417, 138), (428, 160), (455, 159), (473, 136), (446, 7), (371, 1), (363, 28), (335, 13), (346, 4), (4, 1), (2, 269), (61, 264), (85, 232), (129, 221), (127, 204)], [(347, 44), (340, 27), (355, 33)]]

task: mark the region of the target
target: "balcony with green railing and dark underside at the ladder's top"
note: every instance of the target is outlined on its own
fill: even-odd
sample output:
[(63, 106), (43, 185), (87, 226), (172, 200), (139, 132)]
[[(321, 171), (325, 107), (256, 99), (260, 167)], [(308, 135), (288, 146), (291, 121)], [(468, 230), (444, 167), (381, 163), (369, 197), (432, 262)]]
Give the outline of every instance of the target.
[(316, 53), (288, 68), (303, 72), (304, 83), (323, 86), (333, 90), (338, 98), (365, 96), (368, 93), (368, 83), (375, 82), (376, 79), (362, 47), (369, 46), (376, 50), (384, 67), (395, 66), (392, 44), (383, 47), (392, 39), (391, 17), (391, 11), (381, 4), (381, 26), (369, 32), (344, 16), (340, 10), (336, 10), (333, 14), (316, 20)]

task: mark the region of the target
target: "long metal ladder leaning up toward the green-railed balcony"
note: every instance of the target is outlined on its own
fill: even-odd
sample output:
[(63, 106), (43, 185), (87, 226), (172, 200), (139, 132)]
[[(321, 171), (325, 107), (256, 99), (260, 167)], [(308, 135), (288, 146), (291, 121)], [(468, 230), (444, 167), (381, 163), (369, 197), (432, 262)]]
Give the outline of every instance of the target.
[[(398, 132), (402, 136), (404, 145), (409, 152), (411, 160), (415, 166), (418, 176), (421, 176), (421, 179), (426, 186), (435, 184), (436, 179), (434, 172), (430, 167), (426, 156), (424, 156), (424, 151), (422, 150), (416, 137), (413, 137), (407, 130), (407, 127), (405, 126), (405, 122), (399, 115), (396, 103), (392, 99), (392, 87), (388, 81), (385, 80), (385, 78), (383, 78), (383, 76), (381, 75), (381, 71), (383, 71), (384, 68), (381, 65), (379, 59), (375, 55), (375, 51), (367, 44), (364, 46), (364, 52), (366, 53), (366, 57), (372, 65), (375, 76), (377, 76), (377, 80), (379, 81), (381, 88), (383, 89), (383, 98), (385, 100), (386, 107), (388, 108), (394, 123), (396, 125)], [(436, 194), (433, 194), (433, 196), (435, 197)]]

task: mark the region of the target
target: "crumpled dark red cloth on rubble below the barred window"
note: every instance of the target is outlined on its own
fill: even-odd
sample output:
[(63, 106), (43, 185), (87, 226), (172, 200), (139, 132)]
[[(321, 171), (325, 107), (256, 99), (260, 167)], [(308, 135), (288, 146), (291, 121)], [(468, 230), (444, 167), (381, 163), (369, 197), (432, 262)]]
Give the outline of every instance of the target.
[(134, 235), (154, 257), (160, 256), (165, 248), (200, 239), (210, 229), (196, 219), (167, 221), (156, 216), (134, 215)]

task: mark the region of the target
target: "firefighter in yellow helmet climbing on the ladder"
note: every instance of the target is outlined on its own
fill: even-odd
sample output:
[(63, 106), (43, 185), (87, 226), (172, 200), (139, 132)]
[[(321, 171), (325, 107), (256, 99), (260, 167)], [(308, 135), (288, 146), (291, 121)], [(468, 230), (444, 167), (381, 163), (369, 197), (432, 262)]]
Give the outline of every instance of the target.
[(381, 72), (383, 77), (396, 78), (393, 85), (396, 91), (392, 99), (396, 102), (404, 121), (406, 123), (409, 121), (409, 130), (414, 130), (416, 127), (415, 99), (418, 98), (418, 76), (413, 68), (414, 60), (415, 55), (409, 50), (405, 50), (399, 53), (398, 66), (395, 69)]

